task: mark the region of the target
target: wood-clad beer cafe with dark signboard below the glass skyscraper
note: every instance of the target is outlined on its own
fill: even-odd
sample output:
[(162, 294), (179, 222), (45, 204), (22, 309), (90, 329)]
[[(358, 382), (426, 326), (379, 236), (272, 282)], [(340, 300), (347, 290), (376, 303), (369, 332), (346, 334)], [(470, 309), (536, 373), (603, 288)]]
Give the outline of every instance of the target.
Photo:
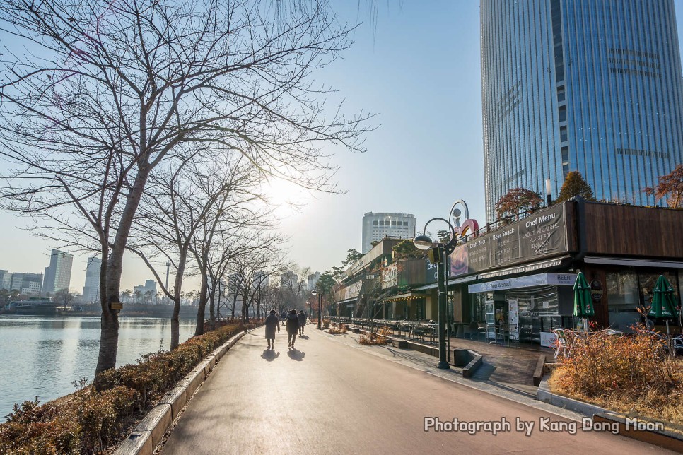
[[(500, 324), (509, 328), (511, 340), (549, 346), (554, 329), (580, 324), (572, 315), (573, 284), (583, 271), (595, 302), (592, 323), (631, 331), (645, 322), (638, 307), (649, 305), (658, 276), (672, 283), (680, 304), (681, 232), (683, 210), (579, 198), (483, 235), (475, 232), (449, 258), (455, 325), (462, 333), (476, 324), (494, 337)], [(655, 329), (663, 324), (648, 322)]]

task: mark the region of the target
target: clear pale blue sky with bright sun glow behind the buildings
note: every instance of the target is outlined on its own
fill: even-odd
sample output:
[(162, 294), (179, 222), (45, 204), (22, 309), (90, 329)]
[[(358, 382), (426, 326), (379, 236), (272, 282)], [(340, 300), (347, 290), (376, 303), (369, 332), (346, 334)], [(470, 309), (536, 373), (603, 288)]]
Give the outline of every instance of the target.
[[(331, 4), (340, 22), (361, 25), (351, 49), (315, 80), (339, 90), (330, 98), (344, 100), (345, 112), (378, 114), (378, 128), (366, 135), (366, 153), (326, 149), (340, 167), (335, 179), (345, 194), (311, 199), (286, 191), (301, 204), (297, 212), (279, 211), (281, 231), (291, 238), (289, 257), (321, 272), (341, 265), (348, 249), (361, 249), (361, 221), (370, 211), (411, 213), (421, 230), (430, 218), (448, 218), (462, 199), (470, 218), (485, 222), (479, 1), (378, 0), (376, 26), (365, 0)], [(683, 0), (675, 7), (683, 30)], [(42, 273), (49, 264), (55, 245), (31, 235), (28, 225), (0, 212), (0, 269)], [(85, 269), (86, 256), (74, 258), (73, 290), (81, 292)], [(144, 264), (124, 259), (122, 289), (146, 279), (153, 276)]]

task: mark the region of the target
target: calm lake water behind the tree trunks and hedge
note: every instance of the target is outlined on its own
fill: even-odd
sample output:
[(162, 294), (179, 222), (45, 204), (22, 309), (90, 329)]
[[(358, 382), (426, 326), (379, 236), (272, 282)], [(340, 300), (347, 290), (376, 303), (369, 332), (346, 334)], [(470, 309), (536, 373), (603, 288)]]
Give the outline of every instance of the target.
[[(194, 324), (180, 321), (181, 343)], [(170, 320), (120, 319), (117, 367), (169, 347)], [(0, 422), (14, 403), (45, 403), (74, 391), (71, 381), (92, 382), (99, 348), (99, 317), (0, 316)]]

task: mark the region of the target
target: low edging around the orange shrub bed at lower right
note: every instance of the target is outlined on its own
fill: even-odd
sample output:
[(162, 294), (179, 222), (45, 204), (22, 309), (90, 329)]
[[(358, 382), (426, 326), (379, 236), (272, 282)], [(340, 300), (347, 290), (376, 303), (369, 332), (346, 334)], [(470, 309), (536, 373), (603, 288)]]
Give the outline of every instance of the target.
[[(622, 415), (614, 413), (600, 406), (595, 406), (583, 401), (578, 401), (573, 398), (553, 394), (548, 386), (548, 375), (544, 376), (538, 386), (537, 398), (539, 401), (549, 403), (553, 406), (573, 410), (574, 412), (586, 415), (592, 418), (594, 422), (613, 422), (619, 425), (619, 435), (636, 439), (636, 441), (647, 442), (665, 449), (683, 452), (683, 436), (677, 435), (673, 432), (654, 431), (654, 430), (627, 430), (624, 425), (625, 418)], [(647, 420), (638, 419), (641, 422)]]

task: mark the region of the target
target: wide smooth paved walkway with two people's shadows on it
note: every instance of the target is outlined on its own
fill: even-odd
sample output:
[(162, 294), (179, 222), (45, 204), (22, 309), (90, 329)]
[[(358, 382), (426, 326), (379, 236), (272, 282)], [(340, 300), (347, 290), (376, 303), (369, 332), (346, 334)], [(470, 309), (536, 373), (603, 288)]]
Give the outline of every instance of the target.
[[(580, 424), (571, 434), (574, 416), (557, 415), (544, 403), (527, 406), (523, 396), (522, 403), (501, 398), (506, 391), (491, 384), (469, 382), (498, 396), (457, 384), (457, 374), (437, 370), (430, 356), (361, 346), (353, 336), (315, 329), (298, 339), (296, 350), (287, 350), (283, 333), (276, 349), (267, 350), (263, 333), (247, 333), (216, 365), (164, 454), (667, 453), (584, 432)], [(425, 418), (511, 426), (495, 436), (482, 427), (474, 435), (424, 431)], [(534, 425), (529, 436), (517, 431), (517, 419)]]

